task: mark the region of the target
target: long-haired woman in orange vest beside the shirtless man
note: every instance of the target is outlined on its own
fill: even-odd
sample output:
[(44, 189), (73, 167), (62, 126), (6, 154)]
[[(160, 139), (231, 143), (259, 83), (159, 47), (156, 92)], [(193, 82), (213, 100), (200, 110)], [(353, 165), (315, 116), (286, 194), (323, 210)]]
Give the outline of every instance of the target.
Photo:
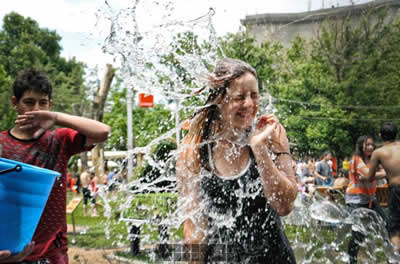
[[(385, 212), (376, 200), (376, 180), (371, 182), (362, 181), (369, 173), (371, 166), (371, 155), (375, 149), (374, 139), (371, 136), (360, 136), (357, 139), (354, 154), (349, 164), (349, 184), (346, 189), (346, 205), (351, 211), (358, 208), (374, 210), (382, 220), (387, 223)], [(377, 173), (378, 178), (385, 177), (385, 171)], [(360, 244), (364, 241), (365, 235), (358, 231), (351, 231), (351, 238), (348, 245), (349, 263), (357, 263)]]

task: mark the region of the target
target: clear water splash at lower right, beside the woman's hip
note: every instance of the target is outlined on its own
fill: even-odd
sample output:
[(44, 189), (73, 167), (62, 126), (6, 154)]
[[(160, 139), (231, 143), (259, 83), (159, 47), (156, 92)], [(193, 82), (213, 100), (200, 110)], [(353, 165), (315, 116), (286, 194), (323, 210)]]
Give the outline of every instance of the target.
[[(348, 263), (347, 245), (352, 231), (365, 236), (359, 251), (362, 263), (400, 260), (384, 220), (367, 208), (350, 210), (343, 201), (331, 201), (316, 193), (308, 201), (299, 198), (284, 222), (297, 226), (292, 245), (299, 263)], [(304, 230), (309, 231), (309, 238)], [(384, 262), (378, 262), (378, 257)]]

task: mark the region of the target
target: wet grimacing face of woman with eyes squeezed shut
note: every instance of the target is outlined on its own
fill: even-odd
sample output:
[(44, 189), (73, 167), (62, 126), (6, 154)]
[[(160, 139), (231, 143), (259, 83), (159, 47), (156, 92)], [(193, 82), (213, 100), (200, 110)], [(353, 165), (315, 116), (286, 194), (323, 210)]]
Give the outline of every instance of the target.
[(258, 81), (247, 72), (231, 82), (222, 102), (221, 114), (224, 128), (245, 130), (258, 112)]

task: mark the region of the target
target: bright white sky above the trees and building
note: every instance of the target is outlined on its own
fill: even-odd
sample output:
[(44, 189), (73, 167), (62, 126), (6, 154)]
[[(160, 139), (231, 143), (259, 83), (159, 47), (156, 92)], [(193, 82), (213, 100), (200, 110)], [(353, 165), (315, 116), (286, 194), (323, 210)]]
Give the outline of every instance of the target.
[[(88, 66), (112, 63), (113, 56), (102, 52), (110, 32), (110, 13), (132, 6), (135, 0), (13, 0), (2, 1), (0, 19), (15, 11), (31, 17), (42, 28), (55, 30), (61, 37), (62, 56), (76, 57)], [(358, 0), (366, 1), (366, 0)], [(246, 15), (264, 13), (295, 13), (320, 9), (322, 6), (348, 4), (350, 0), (140, 0), (152, 7), (170, 8), (182, 21), (192, 20), (213, 8), (212, 18), (218, 36), (237, 32)], [(357, 2), (357, 0), (356, 0)], [(169, 3), (169, 4), (168, 4)], [(161, 12), (161, 11), (160, 11)], [(160, 19), (157, 10), (137, 10), (139, 27)], [(107, 19), (108, 16), (108, 19)], [(0, 25), (2, 22), (0, 22)]]

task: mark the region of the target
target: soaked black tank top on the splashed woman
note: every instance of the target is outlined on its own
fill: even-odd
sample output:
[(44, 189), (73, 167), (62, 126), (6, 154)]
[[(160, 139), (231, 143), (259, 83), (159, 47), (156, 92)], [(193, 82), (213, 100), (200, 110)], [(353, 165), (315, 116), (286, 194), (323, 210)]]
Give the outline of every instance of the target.
[[(211, 151), (210, 167), (214, 168)], [(267, 202), (253, 154), (241, 174), (223, 178), (203, 171), (201, 197), (208, 218), (207, 262), (296, 263), (281, 219)]]

